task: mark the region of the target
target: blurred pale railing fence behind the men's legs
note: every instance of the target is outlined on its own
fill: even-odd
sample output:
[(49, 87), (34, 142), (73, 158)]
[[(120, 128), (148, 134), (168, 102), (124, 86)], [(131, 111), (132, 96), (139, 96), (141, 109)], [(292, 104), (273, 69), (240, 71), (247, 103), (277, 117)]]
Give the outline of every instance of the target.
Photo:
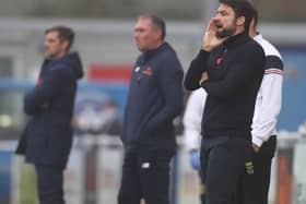
[[(181, 137), (178, 137), (181, 139)], [(180, 140), (178, 143), (181, 144)], [(16, 142), (0, 144), (0, 203), (37, 203), (33, 166), (13, 154)], [(306, 203), (306, 140), (298, 133), (279, 134), (272, 166), (270, 204)], [(64, 172), (68, 204), (117, 203), (122, 147), (118, 137), (83, 135), (76, 137)], [(189, 166), (189, 155), (179, 145), (172, 161), (172, 204), (199, 203), (198, 173)]]

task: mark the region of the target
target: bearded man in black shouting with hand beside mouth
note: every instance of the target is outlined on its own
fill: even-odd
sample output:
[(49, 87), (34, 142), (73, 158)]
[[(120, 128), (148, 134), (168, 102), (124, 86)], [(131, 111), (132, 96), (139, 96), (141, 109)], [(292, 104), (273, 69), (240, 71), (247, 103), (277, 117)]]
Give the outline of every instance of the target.
[(220, 0), (185, 87), (208, 93), (201, 129), (201, 173), (207, 204), (233, 204), (245, 166), (252, 173), (251, 120), (263, 76), (264, 53), (248, 35), (254, 8)]

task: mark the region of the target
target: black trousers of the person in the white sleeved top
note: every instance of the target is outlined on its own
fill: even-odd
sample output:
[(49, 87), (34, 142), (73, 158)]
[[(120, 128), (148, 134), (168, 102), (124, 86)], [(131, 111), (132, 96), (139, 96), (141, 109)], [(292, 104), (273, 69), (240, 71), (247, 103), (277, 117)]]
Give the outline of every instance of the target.
[(254, 155), (254, 173), (245, 173), (242, 185), (240, 204), (268, 204), (271, 164), (276, 147), (276, 137), (264, 142)]

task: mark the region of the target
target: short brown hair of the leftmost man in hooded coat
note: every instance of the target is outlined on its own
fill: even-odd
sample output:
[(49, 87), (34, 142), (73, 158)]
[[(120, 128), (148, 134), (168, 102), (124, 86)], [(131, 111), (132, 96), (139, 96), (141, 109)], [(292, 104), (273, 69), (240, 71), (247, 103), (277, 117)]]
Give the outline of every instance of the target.
[(46, 29), (45, 35), (47, 35), (50, 32), (57, 32), (60, 40), (68, 41), (67, 51), (71, 48), (73, 40), (74, 40), (74, 32), (72, 28), (62, 26), (62, 25), (58, 25), (58, 26), (54, 26), (54, 27)]

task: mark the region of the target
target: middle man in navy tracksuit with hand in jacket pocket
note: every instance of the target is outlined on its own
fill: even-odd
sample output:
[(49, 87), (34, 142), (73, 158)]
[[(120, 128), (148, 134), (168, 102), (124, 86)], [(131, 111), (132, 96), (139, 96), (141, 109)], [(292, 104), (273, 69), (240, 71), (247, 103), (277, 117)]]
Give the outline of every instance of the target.
[(169, 163), (176, 152), (173, 120), (183, 112), (183, 69), (164, 41), (165, 23), (141, 15), (134, 39), (142, 52), (131, 75), (121, 140), (125, 147), (119, 204), (169, 203)]

